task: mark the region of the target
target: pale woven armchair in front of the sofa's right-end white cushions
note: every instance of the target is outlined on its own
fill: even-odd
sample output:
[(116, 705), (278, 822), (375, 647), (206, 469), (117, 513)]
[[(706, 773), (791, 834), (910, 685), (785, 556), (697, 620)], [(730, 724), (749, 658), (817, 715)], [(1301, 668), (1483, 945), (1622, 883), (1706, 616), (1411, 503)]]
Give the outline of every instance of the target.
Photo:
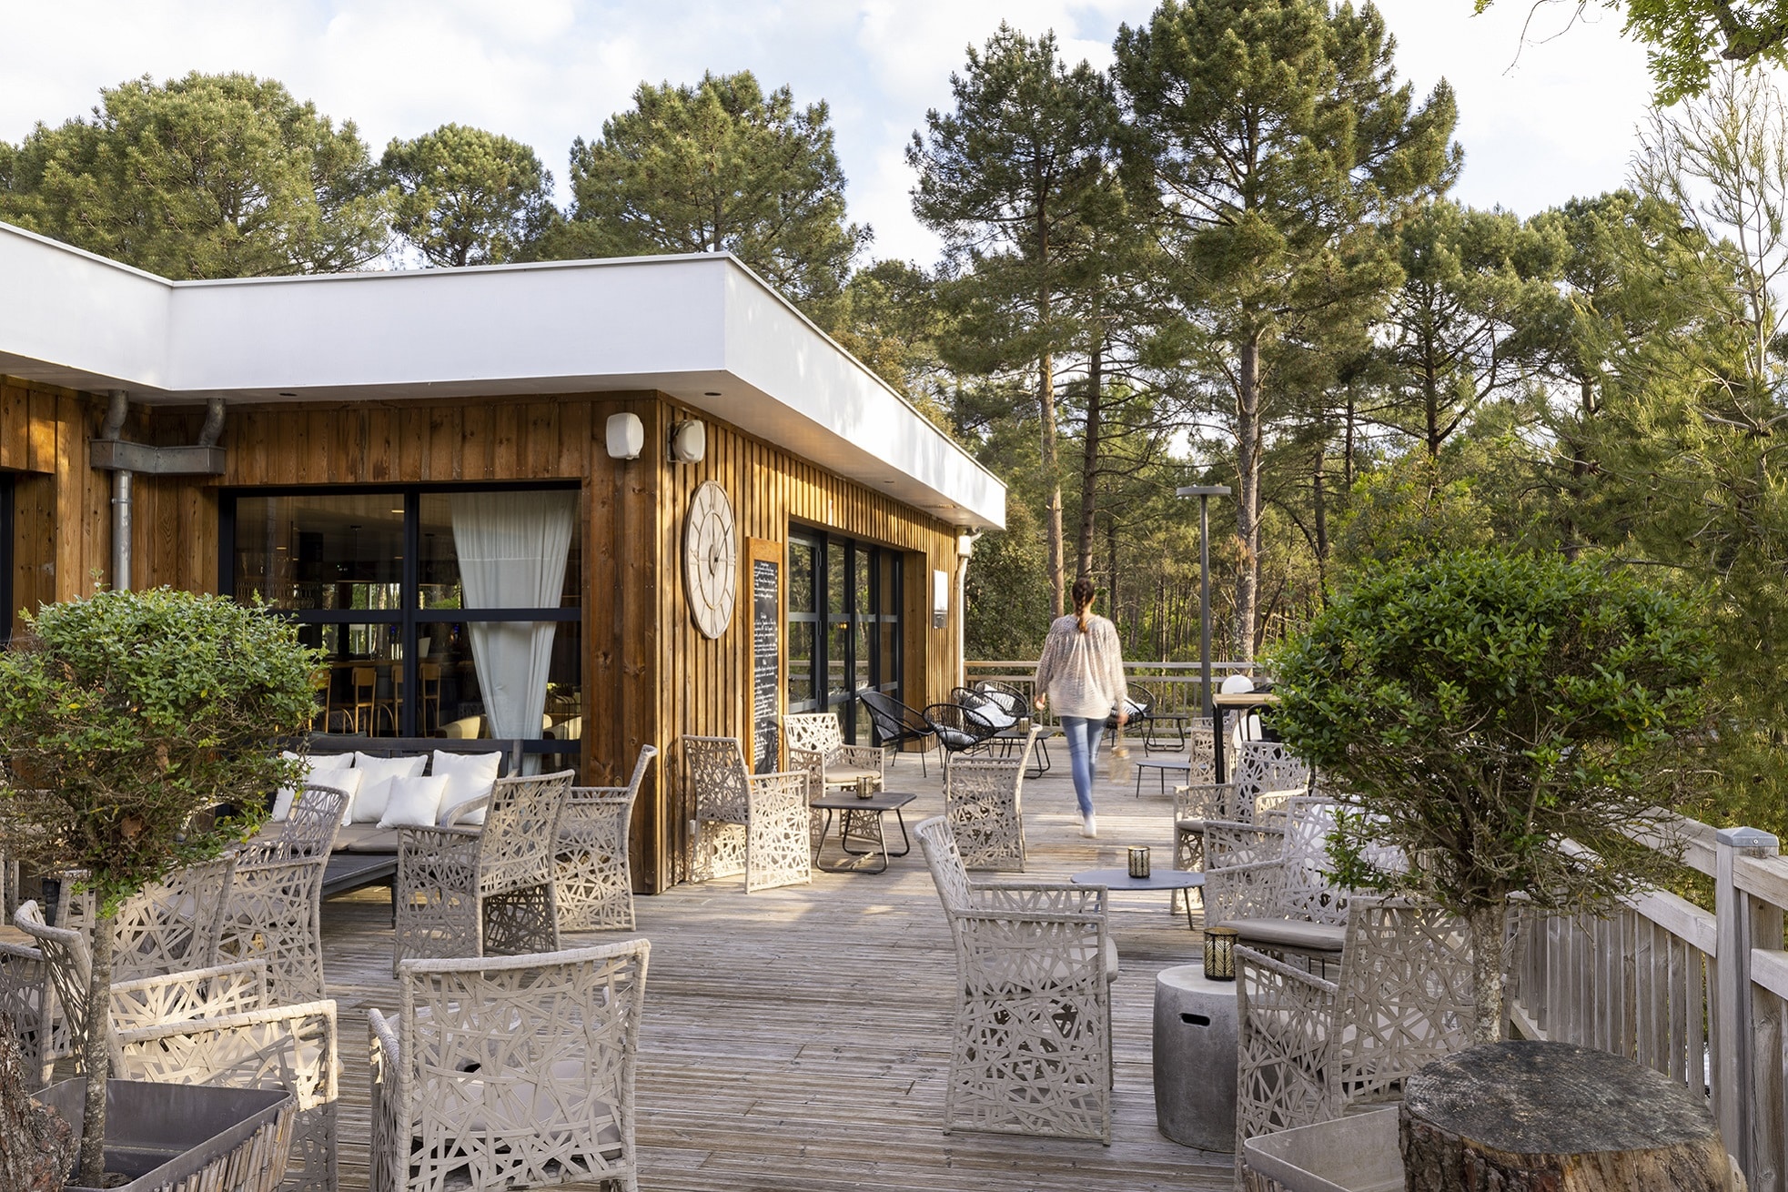
[(558, 951), (558, 829), (570, 770), (499, 777), (483, 827), (404, 827), (392, 970), (417, 956)]

